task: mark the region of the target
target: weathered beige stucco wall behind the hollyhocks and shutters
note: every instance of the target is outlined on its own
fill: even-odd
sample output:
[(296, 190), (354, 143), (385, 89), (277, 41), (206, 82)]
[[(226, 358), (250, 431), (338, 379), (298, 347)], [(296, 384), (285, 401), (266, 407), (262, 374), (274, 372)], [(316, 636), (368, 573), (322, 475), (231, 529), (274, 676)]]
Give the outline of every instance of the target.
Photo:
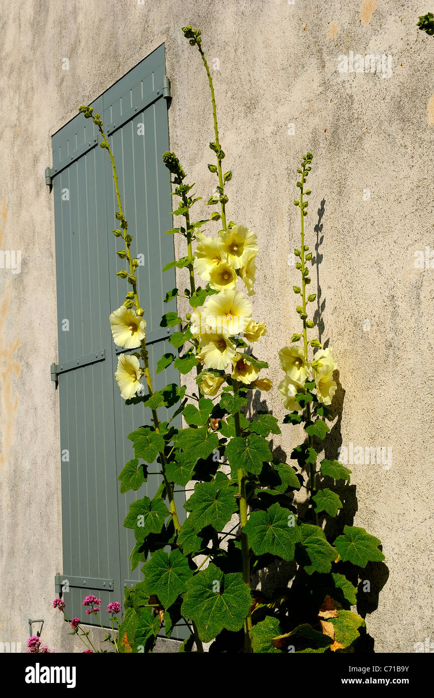
[[(27, 618), (44, 618), (43, 640), (68, 647), (51, 609), (61, 510), (50, 135), (164, 42), (170, 145), (207, 200), (214, 134), (207, 78), (181, 32), (188, 23), (202, 29), (211, 64), (220, 61), (227, 211), (259, 240), (253, 309), (267, 322), (260, 355), (276, 384), (277, 350), (298, 328), (287, 265), (299, 240), (294, 173), (306, 150), (315, 156), (307, 242), (324, 200), (317, 272), (322, 339), (342, 385), (335, 444), (393, 454), (389, 469), (350, 466), (354, 524), (380, 537), (386, 556), (377, 609), (375, 594), (364, 602), (368, 634), (375, 651), (403, 653), (430, 636), (434, 270), (414, 267), (414, 252), (434, 247), (434, 38), (415, 26), (426, 11), (413, 0), (3, 0), (0, 248), (22, 261), (20, 273), (0, 269), (1, 641), (24, 646)], [(386, 77), (339, 73), (350, 52), (384, 54)], [(276, 389), (267, 404), (283, 415)], [(296, 439), (284, 427), (283, 450)]]

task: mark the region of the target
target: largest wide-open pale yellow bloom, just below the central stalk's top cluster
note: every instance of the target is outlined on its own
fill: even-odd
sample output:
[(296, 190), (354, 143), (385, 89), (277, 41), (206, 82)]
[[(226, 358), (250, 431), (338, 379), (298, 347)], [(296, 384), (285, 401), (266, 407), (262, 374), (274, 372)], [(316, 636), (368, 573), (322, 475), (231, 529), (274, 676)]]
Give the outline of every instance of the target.
[(204, 314), (215, 328), (215, 334), (232, 336), (244, 332), (252, 319), (252, 305), (241, 291), (225, 289), (207, 298)]

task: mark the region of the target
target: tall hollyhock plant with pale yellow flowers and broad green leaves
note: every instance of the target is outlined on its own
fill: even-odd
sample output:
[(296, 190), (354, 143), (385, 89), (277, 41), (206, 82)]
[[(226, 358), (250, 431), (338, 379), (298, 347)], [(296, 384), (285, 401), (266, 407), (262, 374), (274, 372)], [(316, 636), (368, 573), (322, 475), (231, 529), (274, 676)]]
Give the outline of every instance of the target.
[[(172, 637), (179, 623), (190, 631), (181, 652), (202, 653), (202, 643), (211, 641), (210, 651), (216, 652), (352, 652), (365, 625), (351, 610), (357, 604), (360, 571), (368, 563), (384, 560), (384, 555), (380, 540), (338, 516), (348, 508), (345, 520), (352, 521), (355, 507), (345, 486), (350, 483), (350, 470), (335, 459), (341, 438), (338, 411), (343, 406), (343, 390), (334, 380), (338, 366), (331, 349), (308, 336), (315, 327), (309, 309), (317, 297), (308, 290), (313, 253), (304, 233), (311, 193), (306, 182), (313, 154), (306, 153), (297, 168), (299, 198), (294, 205), (300, 211), (301, 244), (294, 255), (301, 278), (292, 289), (299, 303), (300, 329), (288, 339), (289, 346), (278, 352), (284, 374), (278, 392), (287, 410), (280, 429), (266, 401), (253, 393), (272, 387), (271, 380), (262, 377), (268, 364), (252, 346), (267, 329), (264, 322), (253, 319), (252, 304), (244, 295), (255, 292), (257, 237), (245, 225), (227, 221), (232, 171), (223, 172), (225, 152), (211, 72), (200, 30), (188, 26), (183, 32), (198, 50), (207, 73), (214, 120), (209, 148), (216, 158), (208, 169), (218, 184), (207, 200), (212, 211), (209, 218), (193, 221), (191, 209), (200, 197), (192, 197), (194, 185), (186, 183), (177, 155), (163, 154), (172, 195), (177, 197), (173, 214), (180, 221), (167, 234), (184, 238), (186, 251), (183, 258), (168, 262), (163, 272), (176, 266), (184, 270), (180, 275), (188, 284), (184, 292), (168, 290), (164, 300), (182, 297), (191, 311), (184, 317), (177, 312), (163, 315), (161, 327), (180, 325), (181, 329), (169, 340), (177, 351), (165, 353), (156, 366), (149, 362), (144, 318), (149, 309), (139, 301), (139, 262), (130, 251), (133, 235), (122, 208), (112, 142), (100, 114), (93, 114), (92, 107), (80, 107), (98, 127), (100, 147), (110, 156), (119, 221), (113, 233), (124, 242), (117, 256), (126, 269), (117, 276), (129, 284), (128, 292), (124, 304), (111, 313), (110, 325), (117, 346), (137, 351), (119, 355), (115, 376), (126, 404), (143, 403), (149, 409), (149, 423), (128, 435), (134, 458), (119, 475), (121, 493), (136, 491), (147, 482), (147, 464), (160, 468), (163, 477), (154, 498), (144, 496), (133, 502), (124, 521), (135, 532), (131, 571), (141, 563), (144, 579), (126, 588), (119, 651), (151, 652), (158, 634)], [(217, 235), (206, 235), (214, 224), (218, 224)], [(321, 225), (320, 221), (318, 234)], [(318, 239), (318, 264), (319, 244)], [(318, 275), (317, 268), (317, 279)], [(204, 287), (198, 285), (202, 282)], [(322, 309), (324, 301), (320, 313)], [(177, 383), (154, 390), (154, 373), (172, 363), (181, 373), (181, 384), (194, 371), (198, 394), (188, 394), (186, 386), (179, 388)], [(139, 394), (142, 380), (145, 395)], [(169, 421), (161, 421), (160, 408), (174, 408)], [(173, 424), (180, 413), (188, 425), (183, 429)], [(336, 416), (337, 426), (330, 430), (327, 421), (333, 422)], [(283, 429), (285, 435), (291, 430), (288, 440), (294, 433), (301, 441), (289, 459), (282, 449), (273, 447), (272, 439)], [(324, 445), (330, 457), (318, 464)], [(291, 461), (297, 461), (298, 472)], [(180, 523), (174, 489), (192, 481), (194, 491), (184, 505), (188, 517)], [(232, 517), (237, 517), (237, 523), (227, 530)], [(277, 591), (257, 588), (258, 575), (262, 581), (264, 576), (271, 577), (267, 570), (280, 566), (293, 580), (291, 586), (279, 581)]]

